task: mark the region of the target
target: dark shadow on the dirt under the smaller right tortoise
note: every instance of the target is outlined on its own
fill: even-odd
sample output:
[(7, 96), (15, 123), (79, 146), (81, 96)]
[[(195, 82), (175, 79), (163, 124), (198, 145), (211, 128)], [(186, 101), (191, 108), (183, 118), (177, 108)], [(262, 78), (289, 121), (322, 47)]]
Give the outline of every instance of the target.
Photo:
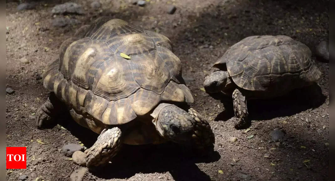
[[(226, 121), (234, 117), (232, 100), (222, 94), (211, 94), (214, 99), (219, 99), (225, 110), (220, 112), (215, 121)], [(321, 106), (327, 96), (322, 93), (318, 84), (304, 88), (294, 89), (288, 94), (271, 99), (248, 100), (248, 112), (251, 120), (270, 120), (276, 117), (292, 116), (307, 109)]]

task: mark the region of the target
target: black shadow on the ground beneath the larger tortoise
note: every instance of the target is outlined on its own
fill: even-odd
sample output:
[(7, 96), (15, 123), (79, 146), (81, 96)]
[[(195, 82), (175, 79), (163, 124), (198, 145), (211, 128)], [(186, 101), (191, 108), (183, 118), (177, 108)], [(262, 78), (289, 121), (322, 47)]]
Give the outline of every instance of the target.
[[(69, 114), (63, 114), (58, 122), (87, 148), (91, 147), (98, 137), (98, 134), (78, 125)], [(173, 142), (158, 145), (124, 144), (112, 163), (92, 174), (104, 179), (126, 179), (136, 173), (170, 172), (175, 180), (211, 180), (195, 163), (218, 161), (221, 158), (220, 154), (211, 151), (206, 156), (200, 156), (192, 154), (191, 151)]]

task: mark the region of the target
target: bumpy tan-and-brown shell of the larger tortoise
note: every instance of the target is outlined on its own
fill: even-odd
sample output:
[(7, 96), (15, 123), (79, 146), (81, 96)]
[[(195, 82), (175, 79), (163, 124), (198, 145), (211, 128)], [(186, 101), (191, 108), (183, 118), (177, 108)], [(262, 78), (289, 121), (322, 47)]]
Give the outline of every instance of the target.
[(98, 18), (81, 27), (43, 77), (77, 122), (93, 130), (127, 123), (160, 101), (193, 102), (170, 40), (120, 19)]

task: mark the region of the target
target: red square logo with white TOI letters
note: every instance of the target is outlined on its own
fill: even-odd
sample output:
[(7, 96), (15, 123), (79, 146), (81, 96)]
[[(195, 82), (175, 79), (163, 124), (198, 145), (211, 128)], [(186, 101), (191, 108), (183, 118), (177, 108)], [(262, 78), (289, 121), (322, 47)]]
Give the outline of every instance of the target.
[(6, 169), (26, 169), (27, 148), (6, 147)]

